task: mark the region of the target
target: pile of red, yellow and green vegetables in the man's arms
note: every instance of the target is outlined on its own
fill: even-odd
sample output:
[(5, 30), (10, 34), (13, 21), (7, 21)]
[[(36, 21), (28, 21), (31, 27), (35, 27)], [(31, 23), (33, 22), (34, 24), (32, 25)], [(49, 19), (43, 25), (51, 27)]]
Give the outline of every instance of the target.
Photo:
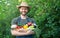
[(23, 26), (18, 26), (18, 25), (12, 25), (11, 29), (15, 29), (15, 30), (34, 30), (34, 27), (36, 26), (36, 24), (28, 22), (27, 24), (23, 25)]

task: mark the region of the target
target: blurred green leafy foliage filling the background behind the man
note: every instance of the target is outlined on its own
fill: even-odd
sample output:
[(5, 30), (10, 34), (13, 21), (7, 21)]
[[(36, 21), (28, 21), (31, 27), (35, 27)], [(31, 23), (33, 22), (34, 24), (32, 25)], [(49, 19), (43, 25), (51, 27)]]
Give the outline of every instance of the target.
[(27, 15), (36, 20), (35, 38), (60, 38), (60, 0), (0, 0), (0, 38), (15, 38), (10, 26), (21, 1), (31, 6)]

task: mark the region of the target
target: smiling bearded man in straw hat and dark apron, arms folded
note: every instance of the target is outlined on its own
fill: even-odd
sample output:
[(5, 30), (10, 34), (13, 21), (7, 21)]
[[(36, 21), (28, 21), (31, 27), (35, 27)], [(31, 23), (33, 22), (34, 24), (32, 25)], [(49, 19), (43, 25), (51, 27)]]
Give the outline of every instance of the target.
[[(16, 28), (16, 26), (18, 25), (24, 25), (28, 22), (32, 22), (34, 24), (34, 26), (36, 25), (35, 24), (35, 21), (31, 18), (29, 18), (26, 14), (28, 13), (29, 9), (30, 9), (30, 6), (28, 6), (28, 4), (26, 2), (22, 2), (19, 6), (19, 11), (20, 11), (20, 16), (17, 17), (17, 18), (14, 18), (11, 22), (11, 28), (14, 27)], [(19, 31), (22, 31), (22, 32), (19, 32)], [(34, 35), (34, 31), (32, 30), (25, 30), (25, 29), (22, 29), (22, 30), (15, 30), (15, 29), (11, 29), (11, 34), (16, 36), (16, 38), (33, 38), (33, 35)]]

